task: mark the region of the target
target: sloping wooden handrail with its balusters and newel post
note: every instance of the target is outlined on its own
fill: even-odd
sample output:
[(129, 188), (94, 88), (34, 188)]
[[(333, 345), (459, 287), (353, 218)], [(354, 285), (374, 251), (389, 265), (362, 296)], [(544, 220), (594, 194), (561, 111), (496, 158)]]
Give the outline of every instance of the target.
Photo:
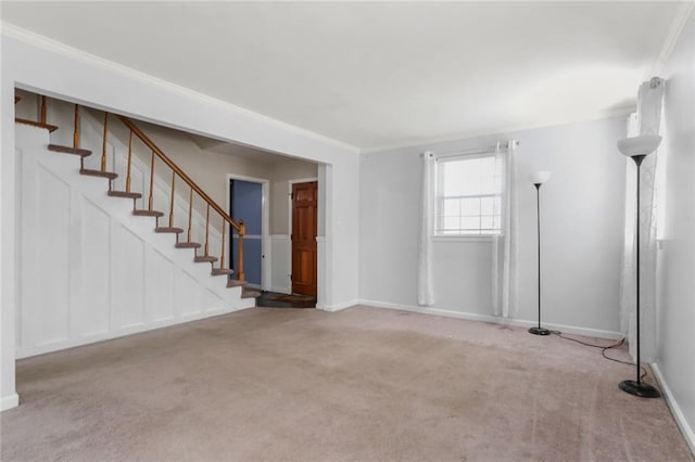
[[(106, 137), (106, 124), (108, 124), (108, 115), (104, 116), (104, 140)], [(169, 223), (169, 228), (174, 227), (174, 201), (175, 201), (175, 189), (176, 189), (176, 178), (180, 178), (181, 180), (184, 180), (184, 182), (186, 184), (188, 184), (188, 187), (190, 188), (190, 192), (189, 192), (189, 196), (188, 196), (188, 232), (187, 232), (187, 236), (188, 236), (188, 242), (191, 242), (191, 238), (192, 238), (192, 214), (193, 214), (193, 192), (195, 192), (195, 194), (198, 194), (206, 204), (206, 213), (205, 213), (205, 243), (203, 246), (204, 253), (205, 253), (205, 257), (210, 256), (208, 252), (210, 252), (210, 245), (208, 245), (208, 238), (210, 238), (210, 211), (211, 208), (213, 211), (217, 213), (217, 215), (219, 215), (222, 217), (222, 221), (223, 221), (223, 227), (222, 227), (222, 249), (220, 249), (220, 257), (219, 257), (219, 270), (224, 271), (225, 268), (225, 233), (226, 233), (226, 229), (227, 226), (232, 227), (237, 233), (239, 234), (239, 242), (238, 242), (238, 252), (237, 252), (237, 274), (236, 274), (236, 279), (238, 279), (239, 281), (245, 281), (245, 274), (244, 274), (244, 268), (243, 268), (243, 236), (247, 233), (247, 227), (243, 223), (243, 220), (239, 220), (236, 221), (233, 218), (231, 218), (228, 214), (225, 213), (225, 210), (215, 202), (213, 201), (206, 193), (205, 191), (203, 191), (188, 175), (186, 175), (186, 172), (184, 170), (181, 170), (181, 168), (176, 165), (166, 154), (164, 154), (164, 152), (162, 152), (162, 150), (154, 144), (154, 142), (147, 136), (144, 134), (144, 132), (140, 129), (140, 127), (138, 127), (137, 125), (135, 125), (135, 123), (132, 120), (130, 120), (127, 117), (124, 116), (118, 116), (118, 118), (123, 121), (123, 124), (130, 130), (130, 134), (129, 134), (129, 139), (128, 139), (128, 163), (127, 163), (127, 174), (126, 174), (126, 192), (131, 192), (130, 191), (130, 169), (131, 169), (131, 164), (132, 164), (132, 137), (137, 137), (140, 139), (140, 141), (142, 141), (142, 143), (144, 143), (144, 145), (147, 145), (151, 151), (152, 151), (152, 156), (151, 156), (151, 161), (150, 161), (150, 191), (149, 191), (149, 197), (148, 197), (148, 209), (150, 211), (152, 211), (152, 206), (153, 206), (153, 184), (154, 184), (154, 156), (156, 155), (162, 162), (164, 162), (164, 164), (166, 164), (166, 166), (168, 166), (172, 169), (172, 193), (170, 193), (170, 203), (169, 203), (169, 219), (168, 219), (168, 223)], [(105, 141), (104, 141), (104, 146), (105, 146)], [(103, 150), (102, 153), (102, 164), (101, 164), (101, 168), (102, 171), (105, 171), (106, 168), (106, 162), (105, 162), (105, 149)]]

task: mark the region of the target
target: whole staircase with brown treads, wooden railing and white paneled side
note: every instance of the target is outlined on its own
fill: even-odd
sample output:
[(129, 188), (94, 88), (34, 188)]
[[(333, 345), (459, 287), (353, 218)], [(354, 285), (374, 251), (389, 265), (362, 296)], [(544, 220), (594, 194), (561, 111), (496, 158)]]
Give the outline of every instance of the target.
[[(17, 144), (23, 144), (17, 145), (17, 151), (21, 151), (20, 155), (22, 156), (20, 164), (24, 165), (21, 183), (22, 188), (26, 189), (26, 192), (22, 194), (22, 209), (28, 210), (22, 223), (23, 231), (26, 230), (26, 233), (23, 232), (22, 235), (28, 236), (47, 232), (43, 238), (39, 236), (39, 241), (51, 240), (53, 239), (51, 234), (41, 230), (48, 230), (53, 226), (52, 223), (64, 223), (64, 227), (55, 224), (55, 228), (70, 230), (64, 232), (64, 242), (70, 245), (65, 245), (68, 247), (67, 249), (60, 249), (59, 245), (50, 245), (46, 242), (36, 244), (31, 243), (30, 239), (22, 241), (21, 254), (26, 262), (23, 262), (24, 270), (21, 272), (23, 306), (20, 316), (22, 326), (20, 328), (18, 357), (33, 356), (255, 306), (254, 298), (260, 294), (244, 287), (243, 235), (245, 228), (242, 220), (229, 217), (127, 117), (102, 114), (102, 153), (98, 168), (94, 168), (97, 166), (96, 162), (92, 162), (94, 158), (92, 150), (80, 145), (83, 138), (80, 130), (84, 126), (80, 118), (83, 115), (90, 119), (92, 127), (96, 127), (91, 112), (80, 114), (80, 107), (75, 105), (73, 127), (71, 127), (73, 129), (72, 145), (53, 143), (51, 133), (59, 130), (59, 125), (62, 124), (48, 123), (48, 99), (37, 98), (38, 120), (16, 119)], [(18, 102), (17, 98), (15, 98), (16, 102)], [(113, 137), (110, 124), (112, 126), (121, 124), (119, 129), (127, 130), (127, 153), (118, 154), (119, 150), (113, 147), (118, 144), (118, 140), (109, 140), (110, 137)], [(28, 128), (21, 130), (20, 127)], [(61, 128), (64, 130), (63, 127)], [(91, 133), (92, 138), (93, 134)], [(134, 141), (136, 140), (140, 145), (144, 145), (151, 151), (150, 168), (147, 171), (142, 170), (147, 167), (140, 165), (143, 163), (134, 155)], [(77, 161), (79, 162), (78, 169)], [(126, 164), (125, 184), (118, 174), (109, 170), (110, 166), (115, 166), (118, 162)], [(135, 164), (140, 165), (140, 170), (134, 168)], [(71, 165), (74, 167), (71, 168)], [(160, 167), (155, 171), (156, 166)], [(134, 181), (134, 176), (137, 175), (146, 178), (141, 178), (140, 182)], [(79, 184), (76, 183), (78, 177), (84, 178)], [(147, 177), (149, 177), (149, 181), (147, 181)], [(163, 179), (167, 177), (167, 180)], [(87, 180), (88, 178), (89, 180)], [(106, 182), (103, 183), (103, 180)], [(134, 182), (136, 188), (132, 187)], [(49, 189), (52, 188), (51, 184), (55, 184), (54, 190)], [(65, 203), (70, 203), (67, 207), (70, 211), (63, 211), (63, 216), (61, 216), (60, 210), (54, 210), (60, 207), (50, 207), (50, 204), (47, 205), (46, 202), (59, 201), (63, 196), (61, 193), (63, 184), (68, 184), (68, 192), (64, 194), (64, 197), (66, 197)], [(138, 185), (142, 189), (138, 189)], [(160, 204), (162, 203), (163, 188), (168, 188), (168, 210), (166, 213), (154, 208), (157, 201)], [(58, 192), (46, 194), (45, 190)], [(187, 197), (184, 198), (181, 192)], [(159, 200), (155, 200), (157, 194)], [(122, 202), (123, 198), (132, 201), (131, 205), (126, 205), (128, 203)], [(31, 213), (36, 207), (31, 208), (30, 205), (36, 204), (40, 204), (39, 207), (45, 207), (49, 213)], [(201, 208), (202, 210), (200, 210)], [(78, 209), (87, 211), (81, 216)], [(101, 210), (104, 214), (91, 210)], [(126, 215), (130, 215), (132, 218), (127, 218)], [(106, 221), (99, 223), (101, 218), (94, 219), (94, 226), (99, 231), (91, 235), (88, 228), (89, 217), (102, 216), (108, 217), (106, 221), (111, 224), (104, 224)], [(79, 218), (75, 219), (75, 217)], [(154, 218), (154, 227), (150, 228), (152, 218)], [(74, 220), (78, 220), (84, 226), (80, 224), (81, 228), (76, 228)], [(76, 238), (73, 235), (75, 229), (78, 229), (77, 233), (85, 242), (76, 243)], [(148, 229), (150, 235), (147, 235)], [(228, 253), (226, 236), (232, 230), (239, 235), (239, 246), (236, 252), (237, 274), (233, 274), (233, 271), (226, 265), (226, 254)], [(99, 240), (96, 238), (97, 234), (104, 238), (99, 238), (101, 240), (99, 245), (92, 245), (91, 241)], [(136, 243), (131, 236), (137, 236), (138, 243), (146, 242), (146, 244), (142, 244), (140, 248), (141, 244)], [(129, 244), (138, 249), (129, 248)], [(218, 249), (216, 253), (212, 251), (213, 245)], [(45, 277), (46, 284), (42, 284), (41, 290), (33, 288), (30, 274), (41, 272), (45, 262), (50, 264), (43, 257), (58, 253), (60, 258), (55, 261), (70, 262), (76, 259), (72, 254), (73, 247), (79, 251), (81, 258), (80, 262), (74, 265), (76, 269), (68, 269), (66, 273), (62, 273), (61, 268), (52, 268), (49, 265), (47, 268), (54, 273), (50, 278)], [(104, 251), (104, 247), (110, 249)], [(92, 248), (94, 254), (101, 255), (101, 259), (90, 257), (89, 253)], [(134, 270), (134, 275), (129, 274), (128, 269), (119, 269), (121, 267), (125, 268), (125, 265), (113, 264), (124, 260), (126, 255), (136, 261), (136, 266), (142, 264), (146, 269)], [(111, 262), (108, 268), (109, 275), (99, 274), (100, 269), (106, 266), (101, 265), (101, 260)], [(170, 267), (168, 261), (172, 262)], [(90, 268), (87, 269), (87, 267)], [(204, 271), (201, 271), (203, 267), (208, 268), (206, 277)], [(46, 271), (46, 268), (42, 271)], [(75, 275), (76, 271), (79, 275)], [(157, 271), (164, 271), (167, 275), (160, 278)], [(52, 282), (53, 279), (62, 279), (63, 282), (58, 284)], [(122, 283), (122, 280), (129, 281), (130, 279), (132, 279), (136, 288)], [(160, 279), (165, 281), (163, 288), (169, 294), (156, 293), (151, 287), (153, 285), (151, 282)], [(218, 281), (219, 279), (223, 281)], [(93, 283), (89, 283), (88, 287), (85, 287), (85, 280)], [(86, 296), (80, 298), (80, 294), (86, 292), (91, 291), (90, 293), (98, 294), (100, 283), (103, 285), (102, 292), (108, 292), (109, 297), (104, 295), (100, 298), (100, 295), (97, 295), (93, 300)], [(63, 304), (56, 301), (61, 299), (60, 294), (56, 294), (51, 300), (50, 288), (43, 287), (43, 285), (52, 286), (56, 293), (67, 291), (68, 294), (64, 296), (67, 301)], [(125, 293), (114, 294), (118, 287)], [(128, 297), (131, 295), (128, 294), (129, 290), (132, 290), (134, 293), (141, 291), (142, 295), (134, 295), (132, 300), (129, 300)], [(225, 290), (229, 293), (224, 294)], [(157, 307), (156, 312), (147, 311), (148, 300), (156, 301), (153, 305)], [(200, 306), (202, 308), (189, 309), (187, 308), (188, 301), (184, 303), (182, 300), (190, 301), (188, 305), (191, 307)], [(75, 303), (73, 304), (73, 301)], [(51, 304), (55, 304), (58, 308), (41, 311)], [(137, 311), (132, 308), (134, 305), (142, 305), (140, 315), (134, 315)], [(93, 309), (89, 308), (90, 306)], [(103, 311), (106, 310), (103, 308), (105, 306), (111, 309), (108, 313)], [(100, 313), (94, 315), (96, 311)], [(88, 321), (83, 322), (83, 319)], [(89, 325), (85, 328), (83, 324)], [(75, 328), (76, 325), (77, 328)]]

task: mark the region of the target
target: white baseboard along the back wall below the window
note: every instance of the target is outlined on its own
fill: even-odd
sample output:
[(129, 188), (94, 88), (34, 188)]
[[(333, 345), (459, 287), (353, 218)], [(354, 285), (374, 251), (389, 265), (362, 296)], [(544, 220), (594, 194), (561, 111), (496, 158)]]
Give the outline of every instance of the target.
[[(359, 305), (367, 305), (376, 308), (388, 308), (388, 309), (399, 309), (403, 311), (420, 312), (424, 315), (443, 316), (447, 318), (466, 319), (469, 321), (482, 321), (482, 322), (492, 322), (495, 324), (516, 325), (518, 328), (532, 328), (533, 325), (535, 325), (535, 322), (527, 321), (525, 319), (498, 318), (496, 316), (491, 316), (491, 315), (456, 311), (456, 310), (443, 309), (443, 308), (420, 307), (420, 306), (414, 306), (414, 305), (400, 305), (400, 304), (392, 304), (389, 301), (361, 299)], [(584, 335), (587, 337), (609, 338), (609, 339), (619, 339), (623, 337), (623, 335), (620, 332), (603, 331), (599, 329), (579, 328), (574, 325), (552, 324), (552, 323), (543, 323), (543, 326), (551, 329), (553, 331), (560, 331), (565, 334)]]

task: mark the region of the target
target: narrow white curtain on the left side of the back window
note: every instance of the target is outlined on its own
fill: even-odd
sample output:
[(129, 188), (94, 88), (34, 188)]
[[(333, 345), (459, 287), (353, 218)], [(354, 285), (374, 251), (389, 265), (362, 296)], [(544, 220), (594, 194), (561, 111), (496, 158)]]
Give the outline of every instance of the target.
[(417, 303), (434, 304), (432, 281), (432, 235), (434, 234), (434, 153), (422, 154), (422, 182), (420, 191), (420, 233), (417, 252)]

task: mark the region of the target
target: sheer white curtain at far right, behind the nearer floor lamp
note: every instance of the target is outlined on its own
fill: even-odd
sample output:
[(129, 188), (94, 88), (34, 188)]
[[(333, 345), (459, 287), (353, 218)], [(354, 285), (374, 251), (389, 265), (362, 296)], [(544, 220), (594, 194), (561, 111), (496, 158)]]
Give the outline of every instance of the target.
[[(640, 86), (637, 113), (628, 121), (628, 137), (639, 134), (659, 134), (661, 123), (661, 102), (665, 81), (654, 78)], [(656, 360), (656, 262), (657, 262), (657, 210), (656, 178), (659, 152), (648, 155), (641, 167), (640, 175), (640, 334), (641, 357), (653, 362)], [(630, 354), (636, 356), (636, 273), (635, 214), (636, 214), (636, 167), (626, 159), (626, 232), (621, 268), (620, 320), (622, 332), (627, 335)]]

